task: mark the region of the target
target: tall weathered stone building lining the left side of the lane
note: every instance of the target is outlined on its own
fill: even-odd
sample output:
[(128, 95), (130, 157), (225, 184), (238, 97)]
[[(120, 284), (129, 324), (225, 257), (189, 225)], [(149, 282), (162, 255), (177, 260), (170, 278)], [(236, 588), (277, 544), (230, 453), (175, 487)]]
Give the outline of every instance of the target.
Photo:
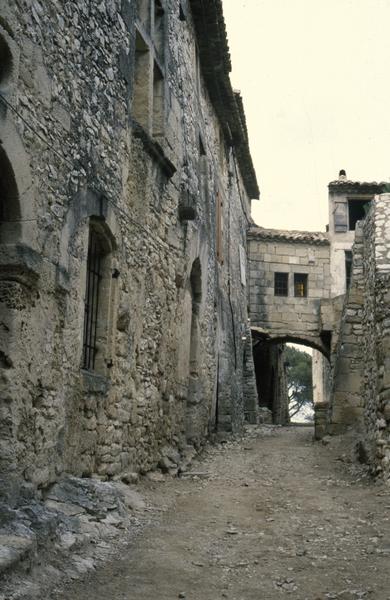
[(221, 1), (3, 0), (0, 59), (6, 497), (239, 431), (259, 192)]

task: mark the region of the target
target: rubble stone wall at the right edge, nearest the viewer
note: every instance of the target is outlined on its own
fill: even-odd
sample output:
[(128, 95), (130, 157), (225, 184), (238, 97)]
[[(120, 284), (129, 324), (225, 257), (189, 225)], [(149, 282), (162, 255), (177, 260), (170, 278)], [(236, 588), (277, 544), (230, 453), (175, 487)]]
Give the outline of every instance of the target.
[(390, 477), (390, 194), (364, 223), (363, 447), (376, 474)]

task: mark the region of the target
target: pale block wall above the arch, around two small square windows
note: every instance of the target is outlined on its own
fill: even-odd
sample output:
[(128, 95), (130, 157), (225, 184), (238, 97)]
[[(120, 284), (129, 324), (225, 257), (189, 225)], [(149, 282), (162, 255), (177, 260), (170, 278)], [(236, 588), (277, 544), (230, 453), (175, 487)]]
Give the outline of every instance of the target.
[[(322, 347), (321, 300), (329, 298), (326, 234), (278, 232), (253, 227), (249, 233), (252, 327), (278, 337)], [(288, 294), (275, 295), (275, 273), (288, 275)], [(294, 274), (307, 275), (307, 297), (294, 294)]]

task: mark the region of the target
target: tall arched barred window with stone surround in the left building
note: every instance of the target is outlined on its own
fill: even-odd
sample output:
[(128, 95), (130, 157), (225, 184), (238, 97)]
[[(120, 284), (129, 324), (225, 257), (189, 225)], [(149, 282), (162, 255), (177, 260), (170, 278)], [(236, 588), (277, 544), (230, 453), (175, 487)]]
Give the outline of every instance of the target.
[(105, 375), (111, 366), (112, 244), (104, 221), (91, 219), (84, 297), (82, 368)]

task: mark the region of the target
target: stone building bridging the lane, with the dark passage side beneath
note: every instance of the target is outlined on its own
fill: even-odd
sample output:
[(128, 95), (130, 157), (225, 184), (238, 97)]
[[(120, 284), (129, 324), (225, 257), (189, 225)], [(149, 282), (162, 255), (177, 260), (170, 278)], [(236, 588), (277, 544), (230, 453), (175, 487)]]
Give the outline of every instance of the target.
[(295, 342), (329, 361), (330, 246), (326, 233), (253, 226), (248, 233), (253, 354), (260, 406), (288, 422), (283, 344)]

